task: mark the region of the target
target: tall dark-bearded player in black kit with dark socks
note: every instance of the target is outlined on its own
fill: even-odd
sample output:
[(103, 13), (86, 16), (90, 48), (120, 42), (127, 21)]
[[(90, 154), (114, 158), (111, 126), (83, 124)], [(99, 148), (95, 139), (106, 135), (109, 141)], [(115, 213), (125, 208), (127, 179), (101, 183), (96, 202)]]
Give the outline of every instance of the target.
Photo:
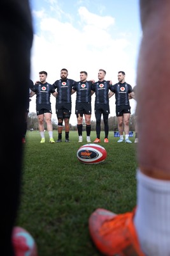
[(53, 83), (53, 87), (57, 88), (56, 97), (56, 114), (58, 119), (58, 140), (62, 142), (62, 124), (65, 123), (65, 142), (69, 142), (69, 118), (71, 116), (71, 90), (76, 81), (68, 79), (68, 71), (66, 68), (60, 70), (60, 80)]

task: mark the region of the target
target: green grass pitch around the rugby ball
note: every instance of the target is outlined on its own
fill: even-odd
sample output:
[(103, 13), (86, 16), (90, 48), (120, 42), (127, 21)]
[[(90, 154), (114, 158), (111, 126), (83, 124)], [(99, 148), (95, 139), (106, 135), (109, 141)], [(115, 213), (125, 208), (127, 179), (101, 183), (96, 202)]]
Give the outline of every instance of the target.
[[(99, 256), (88, 219), (98, 207), (122, 213), (136, 205), (136, 144), (117, 143), (113, 132), (104, 143), (101, 132), (108, 156), (104, 163), (88, 165), (76, 157), (86, 144), (85, 132), (83, 143), (76, 131), (70, 132), (70, 143), (50, 144), (48, 132), (45, 136), (46, 142), (39, 143), (38, 131), (27, 132), (17, 225), (32, 234), (39, 256)], [(57, 140), (56, 131), (53, 137)]]

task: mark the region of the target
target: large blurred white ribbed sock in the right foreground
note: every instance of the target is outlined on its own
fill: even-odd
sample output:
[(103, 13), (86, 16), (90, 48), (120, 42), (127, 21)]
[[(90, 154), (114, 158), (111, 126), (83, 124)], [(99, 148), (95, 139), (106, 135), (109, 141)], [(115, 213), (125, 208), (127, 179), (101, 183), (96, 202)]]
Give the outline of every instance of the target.
[(170, 181), (152, 179), (138, 170), (134, 225), (146, 256), (170, 255)]

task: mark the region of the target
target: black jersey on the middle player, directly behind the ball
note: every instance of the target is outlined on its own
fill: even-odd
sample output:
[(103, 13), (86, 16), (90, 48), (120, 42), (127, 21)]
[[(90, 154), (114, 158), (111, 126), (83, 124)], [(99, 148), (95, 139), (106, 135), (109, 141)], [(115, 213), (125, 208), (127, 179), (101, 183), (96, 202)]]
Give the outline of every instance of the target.
[(91, 81), (77, 82), (74, 84), (73, 90), (76, 91), (76, 102), (91, 102)]

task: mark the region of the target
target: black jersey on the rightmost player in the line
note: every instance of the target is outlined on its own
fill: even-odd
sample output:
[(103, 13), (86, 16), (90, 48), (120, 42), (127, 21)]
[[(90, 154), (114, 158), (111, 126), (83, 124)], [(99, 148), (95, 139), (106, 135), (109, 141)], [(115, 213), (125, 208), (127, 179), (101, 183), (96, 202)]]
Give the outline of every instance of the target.
[(133, 92), (132, 86), (127, 83), (117, 83), (111, 86), (111, 92), (115, 93), (115, 104), (117, 106), (130, 106), (129, 93)]

